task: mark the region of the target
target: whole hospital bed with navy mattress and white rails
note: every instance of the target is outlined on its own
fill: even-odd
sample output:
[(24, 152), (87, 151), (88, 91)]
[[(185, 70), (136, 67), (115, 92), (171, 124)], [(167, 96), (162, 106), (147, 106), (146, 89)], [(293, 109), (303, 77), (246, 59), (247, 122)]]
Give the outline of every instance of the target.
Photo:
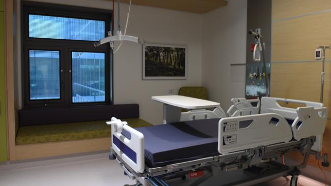
[[(280, 102), (305, 107), (286, 108)], [(124, 173), (143, 186), (166, 186), (168, 179), (203, 172), (190, 184), (194, 186), (220, 171), (232, 170), (254, 176), (229, 185), (252, 185), (288, 175), (291, 185), (296, 185), (299, 169), (306, 166), (310, 154), (321, 158), (327, 109), (321, 103), (268, 97), (261, 99), (260, 109), (260, 114), (137, 129), (113, 117), (107, 122), (113, 138), (109, 159), (116, 159)], [(303, 154), (301, 164), (286, 166), (276, 161), (294, 150)]]

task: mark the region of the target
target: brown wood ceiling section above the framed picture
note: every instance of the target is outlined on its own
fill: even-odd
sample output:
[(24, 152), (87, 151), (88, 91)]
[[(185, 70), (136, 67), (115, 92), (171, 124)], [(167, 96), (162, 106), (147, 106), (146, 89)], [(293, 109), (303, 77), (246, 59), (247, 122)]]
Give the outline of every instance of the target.
[[(130, 3), (130, 0), (120, 0), (120, 2)], [(132, 0), (132, 4), (203, 14), (226, 6), (228, 2), (224, 0)]]

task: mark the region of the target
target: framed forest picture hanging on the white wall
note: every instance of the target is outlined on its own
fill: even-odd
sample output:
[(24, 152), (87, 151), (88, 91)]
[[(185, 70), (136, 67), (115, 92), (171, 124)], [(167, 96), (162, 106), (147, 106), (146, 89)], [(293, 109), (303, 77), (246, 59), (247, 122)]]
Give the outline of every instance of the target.
[(187, 46), (144, 44), (143, 79), (187, 79)]

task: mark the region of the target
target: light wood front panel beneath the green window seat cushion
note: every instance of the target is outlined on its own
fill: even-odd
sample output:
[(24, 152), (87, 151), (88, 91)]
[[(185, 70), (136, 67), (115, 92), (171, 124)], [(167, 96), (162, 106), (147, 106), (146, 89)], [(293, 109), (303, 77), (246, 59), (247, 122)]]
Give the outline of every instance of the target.
[(16, 160), (61, 156), (66, 154), (107, 150), (112, 138), (96, 138), (74, 141), (16, 145)]

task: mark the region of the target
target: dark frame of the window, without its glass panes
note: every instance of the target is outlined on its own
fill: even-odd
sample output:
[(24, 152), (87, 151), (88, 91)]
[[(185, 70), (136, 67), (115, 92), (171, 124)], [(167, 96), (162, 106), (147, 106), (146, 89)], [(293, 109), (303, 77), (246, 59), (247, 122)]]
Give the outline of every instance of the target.
[[(109, 45), (94, 48), (95, 41), (29, 37), (29, 15), (46, 15), (105, 22), (105, 37), (111, 30), (112, 11), (76, 6), (22, 1), (22, 97), (24, 107), (87, 106), (113, 104), (113, 51)], [(29, 50), (60, 50), (60, 99), (30, 100)], [(105, 53), (105, 102), (72, 103), (72, 51)], [(61, 72), (62, 71), (62, 72)]]

